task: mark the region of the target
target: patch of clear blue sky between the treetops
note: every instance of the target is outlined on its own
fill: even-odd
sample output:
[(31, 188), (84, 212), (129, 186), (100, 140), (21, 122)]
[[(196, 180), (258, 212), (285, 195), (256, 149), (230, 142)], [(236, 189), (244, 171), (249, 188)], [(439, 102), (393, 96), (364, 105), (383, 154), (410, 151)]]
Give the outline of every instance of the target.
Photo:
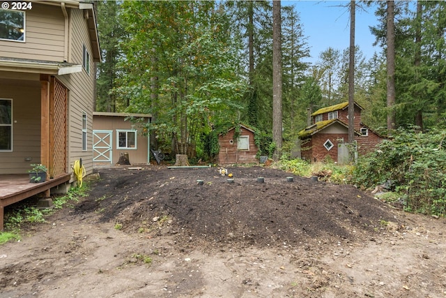
[[(282, 6), (294, 5), (300, 15), (304, 34), (310, 47), (312, 58), (309, 62), (318, 60), (321, 52), (333, 47), (343, 51), (350, 46), (350, 13), (346, 5), (350, 1), (289, 1), (282, 0)], [(378, 23), (374, 15), (376, 8), (367, 8), (367, 11), (356, 10), (355, 43), (360, 46), (367, 59), (379, 47), (373, 47), (375, 37), (371, 34), (369, 26)]]

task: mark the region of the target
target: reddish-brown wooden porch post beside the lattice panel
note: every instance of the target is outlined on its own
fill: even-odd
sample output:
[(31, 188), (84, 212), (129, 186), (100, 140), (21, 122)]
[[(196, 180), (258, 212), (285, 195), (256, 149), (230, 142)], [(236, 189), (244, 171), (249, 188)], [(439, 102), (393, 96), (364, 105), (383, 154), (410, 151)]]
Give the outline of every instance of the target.
[(49, 75), (40, 75), (40, 163), (49, 167)]

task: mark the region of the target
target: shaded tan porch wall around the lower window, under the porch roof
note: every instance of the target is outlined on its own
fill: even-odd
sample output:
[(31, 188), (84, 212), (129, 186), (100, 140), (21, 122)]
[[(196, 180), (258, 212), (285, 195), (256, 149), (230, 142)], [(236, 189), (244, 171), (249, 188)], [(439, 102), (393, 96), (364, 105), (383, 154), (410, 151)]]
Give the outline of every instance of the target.
[(24, 174), (40, 163), (40, 100), (29, 100), (40, 98), (40, 84), (0, 79), (0, 98), (13, 100), (13, 151), (0, 151), (0, 174)]

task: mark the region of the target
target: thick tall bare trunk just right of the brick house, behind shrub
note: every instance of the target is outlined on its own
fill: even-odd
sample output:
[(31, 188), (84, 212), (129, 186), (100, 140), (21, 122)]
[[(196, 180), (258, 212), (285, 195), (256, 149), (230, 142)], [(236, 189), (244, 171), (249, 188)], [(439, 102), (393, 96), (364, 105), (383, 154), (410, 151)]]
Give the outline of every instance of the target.
[(387, 131), (395, 129), (395, 3), (387, 1)]

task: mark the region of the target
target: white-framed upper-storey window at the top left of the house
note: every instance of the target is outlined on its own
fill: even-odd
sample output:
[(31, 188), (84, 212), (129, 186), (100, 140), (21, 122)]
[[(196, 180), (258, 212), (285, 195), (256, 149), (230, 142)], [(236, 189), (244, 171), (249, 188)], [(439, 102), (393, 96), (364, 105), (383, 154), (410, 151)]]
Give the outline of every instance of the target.
[[(13, 4), (14, 3), (19, 2), (13, 2)], [(31, 4), (31, 2), (29, 3)], [(25, 41), (24, 11), (0, 9), (0, 39), (21, 42)]]

